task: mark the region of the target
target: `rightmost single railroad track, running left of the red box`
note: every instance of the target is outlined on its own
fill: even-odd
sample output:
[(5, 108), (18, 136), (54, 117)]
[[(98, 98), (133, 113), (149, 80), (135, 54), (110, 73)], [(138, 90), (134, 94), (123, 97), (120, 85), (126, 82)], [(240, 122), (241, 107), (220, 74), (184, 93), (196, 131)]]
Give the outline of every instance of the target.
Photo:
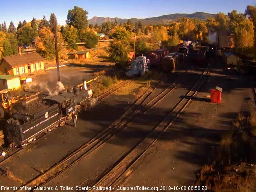
[[(164, 131), (172, 125), (181, 112), (186, 108), (191, 99), (196, 95), (201, 85), (204, 83), (210, 70), (211, 65), (208, 65), (195, 85), (184, 95), (182, 99), (178, 101), (178, 103), (170, 110), (169, 114), (163, 119), (163, 121), (153, 128), (147, 134), (147, 136), (144, 137), (127, 154), (125, 154), (122, 160), (120, 160), (113, 167), (110, 167), (109, 171), (92, 186), (114, 187), (120, 185), (120, 180), (124, 179), (126, 175), (129, 175), (129, 170), (132, 168), (132, 166), (147, 152), (147, 150), (157, 141), (157, 139), (161, 137)], [(92, 189), (90, 191), (94, 190)]]

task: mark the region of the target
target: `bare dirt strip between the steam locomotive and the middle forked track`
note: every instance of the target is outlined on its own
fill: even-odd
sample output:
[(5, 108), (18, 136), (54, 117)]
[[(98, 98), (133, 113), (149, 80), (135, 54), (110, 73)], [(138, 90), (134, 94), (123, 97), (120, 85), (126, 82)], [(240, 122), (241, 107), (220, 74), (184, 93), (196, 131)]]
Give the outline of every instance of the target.
[[(108, 127), (134, 101), (133, 95), (110, 95), (99, 105), (81, 112), (78, 115), (77, 128), (74, 128), (73, 122), (69, 121), (65, 126), (44, 136), (40, 142), (29, 145), (21, 153), (15, 154), (11, 159), (1, 164), (3, 170), (5, 170), (6, 165), (8, 166), (13, 177), (8, 179), (4, 175), (0, 176), (0, 185), (6, 186), (9, 183), (9, 186), (13, 186), (13, 184), (21, 186), (21, 183), (33, 179), (41, 173), (41, 168), (47, 170), (71, 151)], [(49, 145), (49, 143), (51, 144)], [(18, 182), (14, 182), (14, 180)]]

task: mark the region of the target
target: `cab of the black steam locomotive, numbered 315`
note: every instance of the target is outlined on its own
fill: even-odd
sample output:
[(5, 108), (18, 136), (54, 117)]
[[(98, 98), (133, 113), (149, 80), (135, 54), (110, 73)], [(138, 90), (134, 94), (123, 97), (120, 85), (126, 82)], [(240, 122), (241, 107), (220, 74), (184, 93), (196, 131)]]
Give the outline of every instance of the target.
[(48, 106), (58, 104), (62, 116), (67, 116), (73, 110), (75, 110), (73, 93), (60, 92), (58, 95), (48, 96), (44, 98), (43, 101), (45, 101), (46, 105)]

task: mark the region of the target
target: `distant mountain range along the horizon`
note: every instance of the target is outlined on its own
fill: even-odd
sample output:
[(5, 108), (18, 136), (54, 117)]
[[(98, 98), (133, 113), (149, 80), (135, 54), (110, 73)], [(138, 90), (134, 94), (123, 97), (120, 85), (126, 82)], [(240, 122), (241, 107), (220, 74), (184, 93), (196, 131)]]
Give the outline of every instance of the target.
[[(159, 17), (148, 17), (145, 19), (137, 19), (131, 18), (133, 22), (138, 22), (141, 20), (143, 24), (150, 25), (150, 24), (160, 24), (160, 23), (170, 23), (173, 21), (177, 21), (179, 17), (188, 17), (188, 18), (197, 18), (199, 20), (206, 20), (208, 17), (214, 17), (215, 14), (212, 13), (204, 13), (204, 12), (195, 12), (195, 13), (174, 13), (170, 15), (161, 15)], [(118, 17), (110, 18), (110, 17), (93, 17), (88, 19), (89, 24), (98, 24), (101, 25), (103, 22), (114, 22), (115, 19), (118, 23), (127, 22), (128, 19), (120, 19)]]

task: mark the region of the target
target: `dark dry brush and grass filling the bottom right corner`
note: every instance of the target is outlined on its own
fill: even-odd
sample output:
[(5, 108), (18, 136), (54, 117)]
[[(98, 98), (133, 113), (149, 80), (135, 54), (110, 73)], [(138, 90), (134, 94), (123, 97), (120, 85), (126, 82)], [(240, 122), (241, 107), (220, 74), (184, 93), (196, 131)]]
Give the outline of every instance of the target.
[(196, 185), (209, 191), (253, 191), (256, 187), (256, 112), (238, 114), (233, 129), (213, 151), (211, 165), (197, 172)]

